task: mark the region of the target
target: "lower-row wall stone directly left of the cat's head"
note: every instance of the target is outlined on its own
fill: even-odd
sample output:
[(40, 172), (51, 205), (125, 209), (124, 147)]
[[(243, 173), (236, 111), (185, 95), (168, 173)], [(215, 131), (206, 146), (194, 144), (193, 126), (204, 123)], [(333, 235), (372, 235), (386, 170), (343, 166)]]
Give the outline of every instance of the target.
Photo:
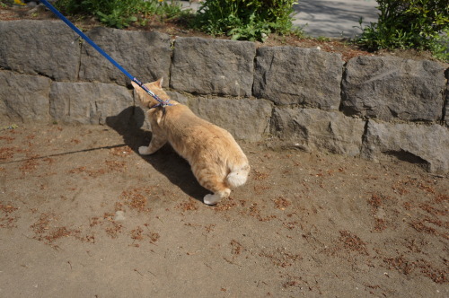
[(50, 115), (64, 123), (104, 124), (134, 104), (132, 93), (112, 83), (62, 83), (51, 85)]

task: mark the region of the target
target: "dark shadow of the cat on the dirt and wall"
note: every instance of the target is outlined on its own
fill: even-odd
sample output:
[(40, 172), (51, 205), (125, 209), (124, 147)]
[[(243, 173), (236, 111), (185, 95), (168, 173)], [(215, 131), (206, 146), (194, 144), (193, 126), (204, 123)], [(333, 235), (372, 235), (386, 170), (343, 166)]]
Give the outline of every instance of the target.
[[(151, 132), (142, 129), (145, 121), (144, 111), (140, 108), (128, 107), (119, 115), (106, 118), (106, 124), (123, 137), (123, 141), (145, 162), (150, 163), (156, 171), (162, 173), (174, 185), (178, 186), (189, 197), (199, 201), (207, 195), (206, 188), (202, 188), (190, 170), (189, 162), (185, 161), (172, 146), (167, 144), (151, 155), (140, 155), (139, 146), (147, 146), (151, 140)], [(142, 173), (145, 176), (145, 173)]]

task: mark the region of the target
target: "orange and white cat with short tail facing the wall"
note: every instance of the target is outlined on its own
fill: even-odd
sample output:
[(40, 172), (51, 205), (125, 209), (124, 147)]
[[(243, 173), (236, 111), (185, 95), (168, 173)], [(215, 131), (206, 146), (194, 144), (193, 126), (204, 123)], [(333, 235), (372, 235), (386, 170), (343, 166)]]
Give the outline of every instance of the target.
[[(136, 83), (132, 82), (136, 96), (145, 108), (158, 102)], [(169, 96), (162, 89), (163, 78), (145, 83), (163, 101)], [(198, 118), (187, 106), (170, 101), (172, 106), (149, 109), (153, 137), (150, 145), (139, 147), (142, 155), (152, 154), (167, 141), (173, 149), (190, 164), (199, 184), (212, 191), (204, 197), (207, 205), (215, 205), (220, 199), (229, 197), (230, 188), (243, 185), (250, 171), (250, 165), (242, 149), (230, 133), (202, 118)]]

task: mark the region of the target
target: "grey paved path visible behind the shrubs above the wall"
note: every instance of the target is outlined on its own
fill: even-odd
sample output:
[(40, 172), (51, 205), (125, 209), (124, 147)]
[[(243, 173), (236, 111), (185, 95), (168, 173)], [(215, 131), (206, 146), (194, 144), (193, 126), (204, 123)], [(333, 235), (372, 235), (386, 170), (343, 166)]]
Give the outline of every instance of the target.
[[(193, 10), (199, 6), (187, 1), (182, 4)], [(375, 6), (375, 0), (298, 0), (293, 23), (313, 37), (354, 37), (361, 32), (354, 28), (360, 17), (365, 24), (377, 21)]]

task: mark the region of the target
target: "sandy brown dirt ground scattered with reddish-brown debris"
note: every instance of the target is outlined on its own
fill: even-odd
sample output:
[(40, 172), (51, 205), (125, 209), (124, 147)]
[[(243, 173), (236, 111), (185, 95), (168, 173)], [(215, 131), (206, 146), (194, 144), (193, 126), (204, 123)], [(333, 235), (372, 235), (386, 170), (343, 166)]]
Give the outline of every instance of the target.
[(448, 297), (448, 186), (407, 162), (242, 144), (206, 206), (126, 125), (0, 131), (1, 297)]

